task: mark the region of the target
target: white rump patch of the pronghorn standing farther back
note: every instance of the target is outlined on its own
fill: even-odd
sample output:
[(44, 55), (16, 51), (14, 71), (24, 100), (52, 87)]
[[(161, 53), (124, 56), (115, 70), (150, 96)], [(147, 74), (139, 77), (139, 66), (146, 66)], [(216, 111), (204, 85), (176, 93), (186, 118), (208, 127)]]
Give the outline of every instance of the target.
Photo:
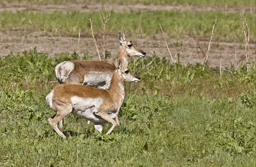
[(65, 83), (70, 73), (74, 70), (74, 68), (75, 68), (75, 65), (73, 62), (64, 61), (59, 63), (55, 67), (56, 78), (62, 83)]

